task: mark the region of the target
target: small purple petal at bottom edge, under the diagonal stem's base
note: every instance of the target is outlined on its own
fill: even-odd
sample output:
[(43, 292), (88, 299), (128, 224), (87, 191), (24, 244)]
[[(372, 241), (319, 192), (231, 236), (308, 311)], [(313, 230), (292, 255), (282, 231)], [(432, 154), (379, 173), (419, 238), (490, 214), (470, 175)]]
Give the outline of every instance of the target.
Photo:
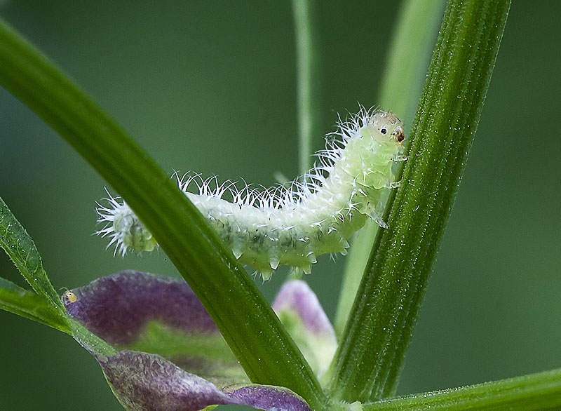
[(266, 411), (311, 411), (308, 404), (288, 389), (277, 386), (244, 386), (227, 393), (244, 405)]

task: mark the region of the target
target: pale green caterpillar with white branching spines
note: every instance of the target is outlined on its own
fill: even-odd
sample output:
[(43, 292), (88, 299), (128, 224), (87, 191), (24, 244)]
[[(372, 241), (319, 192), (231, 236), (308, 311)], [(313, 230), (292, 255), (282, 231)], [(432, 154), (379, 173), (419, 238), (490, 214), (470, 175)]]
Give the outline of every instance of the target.
[[(406, 159), (403, 124), (394, 114), (360, 107), (337, 126), (309, 173), (288, 186), (238, 189), (231, 180), (177, 175), (179, 188), (224, 245), (264, 280), (279, 265), (309, 274), (318, 255), (346, 254), (349, 238), (369, 218), (387, 228), (382, 214), (389, 190), (399, 185), (395, 164)], [(193, 184), (196, 193), (188, 191)], [(96, 234), (111, 238), (107, 247), (115, 244), (114, 255), (154, 250), (156, 240), (133, 210), (119, 197), (105, 200), (97, 203), (97, 221), (105, 225)]]

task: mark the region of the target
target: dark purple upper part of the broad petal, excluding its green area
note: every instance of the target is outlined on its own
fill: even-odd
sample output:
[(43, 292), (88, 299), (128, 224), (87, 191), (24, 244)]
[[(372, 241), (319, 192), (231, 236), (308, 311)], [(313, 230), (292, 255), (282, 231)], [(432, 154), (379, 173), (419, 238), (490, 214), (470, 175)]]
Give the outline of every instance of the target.
[(109, 344), (135, 342), (149, 321), (192, 333), (217, 333), (215, 323), (184, 281), (122, 271), (72, 290), (67, 313)]

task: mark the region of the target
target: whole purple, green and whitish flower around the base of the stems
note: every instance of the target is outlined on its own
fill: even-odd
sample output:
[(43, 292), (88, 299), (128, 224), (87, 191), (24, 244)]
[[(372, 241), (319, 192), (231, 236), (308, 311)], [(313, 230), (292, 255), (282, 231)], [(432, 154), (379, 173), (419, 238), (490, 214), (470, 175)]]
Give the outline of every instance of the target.
[[(288, 389), (248, 384), (216, 325), (184, 281), (123, 271), (71, 290), (63, 303), (69, 316), (121, 349), (106, 356), (83, 344), (127, 410), (196, 411), (233, 404), (311, 411)], [(312, 368), (318, 375), (323, 373), (337, 343), (316, 295), (303, 281), (289, 281), (273, 308)]]

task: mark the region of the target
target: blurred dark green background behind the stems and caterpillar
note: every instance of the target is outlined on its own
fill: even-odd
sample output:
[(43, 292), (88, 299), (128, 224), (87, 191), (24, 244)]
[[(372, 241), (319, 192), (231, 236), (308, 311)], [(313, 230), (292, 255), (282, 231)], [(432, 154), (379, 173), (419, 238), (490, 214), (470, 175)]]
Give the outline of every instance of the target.
[[(377, 104), (397, 12), (390, 1), (320, 3), (324, 133), (357, 102)], [(289, 1), (18, 0), (0, 15), (170, 173), (265, 185), (296, 175)], [(560, 16), (557, 0), (513, 4), (399, 393), (561, 367)], [(55, 288), (121, 269), (177, 276), (163, 252), (104, 250), (92, 236), (104, 181), (4, 89), (0, 175)], [(306, 277), (331, 318), (343, 260), (323, 258)], [(0, 276), (25, 285), (2, 253)], [(257, 282), (271, 300), (284, 278)], [(71, 338), (0, 311), (0, 410), (71, 409), (122, 408)]]

